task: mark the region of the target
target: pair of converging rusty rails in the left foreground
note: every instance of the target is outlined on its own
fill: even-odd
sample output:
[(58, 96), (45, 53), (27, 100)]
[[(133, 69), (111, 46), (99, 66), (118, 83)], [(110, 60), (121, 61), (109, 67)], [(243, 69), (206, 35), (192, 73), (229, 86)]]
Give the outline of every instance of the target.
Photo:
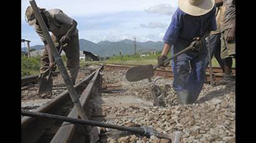
[[(87, 76), (80, 83), (75, 85), (77, 93), (80, 95), (80, 101), (84, 109), (86, 109), (86, 103), (89, 101), (91, 91), (96, 84), (96, 80), (99, 78), (99, 71), (102, 66), (94, 71), (91, 75)], [(52, 99), (48, 103), (42, 105), (41, 107), (35, 109), (36, 112), (50, 113), (50, 114), (59, 114), (62, 116), (77, 116), (76, 109), (73, 108), (72, 101), (70, 99), (68, 91), (64, 91), (56, 98)], [(87, 112), (88, 113), (88, 112)], [(79, 137), (73, 135), (82, 135), (84, 136), (85, 131), (80, 126), (72, 126), (72, 130), (67, 132), (63, 128), (63, 122), (52, 121), (44, 118), (31, 118), (31, 117), (22, 117), (21, 118), (21, 141), (22, 142), (59, 142), (62, 141), (74, 141), (79, 142), (77, 139)], [(63, 130), (62, 130), (63, 129)], [(74, 134), (79, 132), (79, 134)], [(65, 135), (64, 135), (65, 134)], [(66, 138), (64, 138), (66, 137)], [(80, 136), (81, 137), (81, 136)], [(86, 139), (84, 139), (85, 141)], [(65, 142), (64, 141), (64, 142)]]

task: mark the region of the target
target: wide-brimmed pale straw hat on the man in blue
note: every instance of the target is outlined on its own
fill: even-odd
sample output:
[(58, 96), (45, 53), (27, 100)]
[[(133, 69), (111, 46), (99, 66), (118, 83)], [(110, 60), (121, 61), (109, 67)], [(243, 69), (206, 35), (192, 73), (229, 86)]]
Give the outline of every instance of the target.
[(179, 0), (178, 6), (181, 11), (191, 16), (202, 16), (214, 7), (214, 0)]

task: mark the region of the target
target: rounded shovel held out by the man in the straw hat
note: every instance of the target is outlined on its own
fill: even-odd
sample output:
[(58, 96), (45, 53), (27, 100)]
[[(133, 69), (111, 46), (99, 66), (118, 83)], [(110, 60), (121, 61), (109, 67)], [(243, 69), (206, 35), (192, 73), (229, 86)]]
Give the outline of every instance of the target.
[[(197, 42), (196, 40), (194, 40), (189, 47), (184, 48), (183, 50), (181, 50), (180, 52), (176, 53), (173, 57), (171, 58), (167, 58), (166, 60), (164, 60), (164, 63), (169, 62), (170, 60), (174, 59), (175, 57), (178, 57), (180, 54), (187, 52), (188, 50), (191, 49), (195, 49), (195, 50), (199, 50), (197, 49), (197, 47), (194, 47), (195, 42)], [(154, 71), (155, 69), (159, 68), (160, 65), (140, 65), (137, 67), (132, 67), (129, 68), (129, 70), (127, 70), (126, 72), (126, 79), (127, 81), (140, 81), (140, 80), (144, 80), (144, 79), (151, 79), (151, 77), (154, 75)]]

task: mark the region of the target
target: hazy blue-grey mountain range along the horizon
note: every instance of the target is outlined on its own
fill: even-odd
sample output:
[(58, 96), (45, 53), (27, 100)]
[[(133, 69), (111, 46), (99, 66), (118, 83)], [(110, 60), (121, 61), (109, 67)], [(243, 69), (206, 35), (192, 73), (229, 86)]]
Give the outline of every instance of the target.
[[(112, 57), (114, 54), (119, 55), (120, 51), (123, 55), (134, 54), (134, 41), (124, 39), (118, 42), (110, 42), (108, 40), (101, 41), (99, 43), (94, 43), (86, 39), (79, 39), (80, 50), (86, 50), (92, 52), (101, 57)], [(137, 42), (137, 51), (139, 50), (162, 50), (164, 42)], [(36, 50), (41, 50), (43, 45), (34, 45), (31, 48)], [(27, 52), (27, 48), (22, 48), (22, 51)]]

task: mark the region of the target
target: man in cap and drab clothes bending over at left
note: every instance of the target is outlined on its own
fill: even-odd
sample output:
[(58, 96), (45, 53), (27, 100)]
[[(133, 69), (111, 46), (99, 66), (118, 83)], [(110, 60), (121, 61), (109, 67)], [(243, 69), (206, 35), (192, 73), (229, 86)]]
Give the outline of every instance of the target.
[[(64, 14), (61, 9), (40, 9), (39, 11), (46, 23), (47, 28), (52, 32), (52, 40), (56, 48), (59, 50), (63, 45), (62, 50), (67, 56), (67, 70), (71, 76), (72, 83), (76, 84), (76, 76), (79, 71), (79, 37), (76, 28), (77, 22), (71, 17)], [(26, 9), (26, 22), (34, 26), (37, 34), (44, 43), (44, 53), (41, 58), (41, 68), (39, 78), (49, 75), (49, 71), (54, 68), (54, 58), (51, 48), (46, 42), (39, 23), (36, 20), (34, 11), (31, 6)]]

